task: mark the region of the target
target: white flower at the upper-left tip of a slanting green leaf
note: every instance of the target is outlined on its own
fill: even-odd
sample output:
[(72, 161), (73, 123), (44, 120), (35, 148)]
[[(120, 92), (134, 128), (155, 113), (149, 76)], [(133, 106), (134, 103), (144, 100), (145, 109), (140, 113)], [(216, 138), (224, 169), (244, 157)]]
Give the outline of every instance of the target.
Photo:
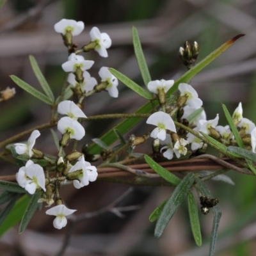
[(108, 83), (106, 90), (109, 95), (114, 98), (118, 97), (118, 90), (116, 88), (116, 86), (118, 86), (118, 80), (111, 74), (107, 67), (100, 68), (99, 76), (101, 77), (102, 82)]

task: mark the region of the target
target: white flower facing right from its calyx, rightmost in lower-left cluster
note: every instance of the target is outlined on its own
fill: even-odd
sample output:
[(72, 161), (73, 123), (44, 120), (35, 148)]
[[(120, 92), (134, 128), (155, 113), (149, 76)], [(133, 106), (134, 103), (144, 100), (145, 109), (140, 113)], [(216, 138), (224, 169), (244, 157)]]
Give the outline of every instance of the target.
[(79, 161), (70, 168), (68, 173), (76, 172), (78, 170), (83, 170), (81, 175), (79, 175), (79, 180), (74, 180), (73, 184), (75, 188), (83, 188), (84, 186), (87, 186), (90, 182), (93, 182), (97, 179), (98, 173), (97, 168), (95, 166), (91, 166), (89, 162), (86, 162), (84, 160), (84, 156), (81, 156)]

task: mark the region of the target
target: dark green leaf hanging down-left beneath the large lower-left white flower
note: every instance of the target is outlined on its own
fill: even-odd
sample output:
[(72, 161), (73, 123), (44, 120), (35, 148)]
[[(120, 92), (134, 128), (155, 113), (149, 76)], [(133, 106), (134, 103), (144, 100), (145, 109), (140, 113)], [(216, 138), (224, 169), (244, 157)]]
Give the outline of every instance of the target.
[(33, 215), (38, 207), (37, 201), (41, 197), (41, 194), (42, 194), (41, 192), (37, 192), (31, 197), (31, 200), (29, 201), (26, 211), (24, 212), (24, 214), (22, 216), (22, 220), (20, 222), (19, 233), (22, 233), (28, 226), (29, 221), (33, 217)]

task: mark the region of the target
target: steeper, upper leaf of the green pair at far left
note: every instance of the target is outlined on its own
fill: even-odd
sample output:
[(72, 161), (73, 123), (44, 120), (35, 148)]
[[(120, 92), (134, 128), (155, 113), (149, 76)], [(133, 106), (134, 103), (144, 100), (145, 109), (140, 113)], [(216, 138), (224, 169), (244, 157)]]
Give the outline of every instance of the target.
[(36, 62), (36, 59), (34, 58), (34, 56), (29, 55), (29, 61), (30, 61), (30, 65), (34, 71), (34, 74), (35, 74), (38, 82), (42, 86), (45, 94), (49, 97), (49, 99), (52, 102), (54, 102), (54, 95), (52, 93), (51, 87), (49, 86), (44, 75), (42, 74), (40, 67), (38, 66), (38, 63)]

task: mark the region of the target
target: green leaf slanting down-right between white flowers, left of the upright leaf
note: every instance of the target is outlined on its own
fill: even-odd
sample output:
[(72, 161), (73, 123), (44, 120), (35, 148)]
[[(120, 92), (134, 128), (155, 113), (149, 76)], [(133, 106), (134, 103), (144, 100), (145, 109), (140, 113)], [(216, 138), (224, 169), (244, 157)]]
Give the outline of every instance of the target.
[(152, 100), (152, 95), (144, 90), (139, 84), (136, 84), (134, 81), (129, 79), (124, 74), (120, 73), (119, 71), (115, 70), (115, 68), (109, 68), (109, 71), (122, 83), (124, 83), (127, 87), (129, 87), (132, 91), (136, 92), (141, 97)]

